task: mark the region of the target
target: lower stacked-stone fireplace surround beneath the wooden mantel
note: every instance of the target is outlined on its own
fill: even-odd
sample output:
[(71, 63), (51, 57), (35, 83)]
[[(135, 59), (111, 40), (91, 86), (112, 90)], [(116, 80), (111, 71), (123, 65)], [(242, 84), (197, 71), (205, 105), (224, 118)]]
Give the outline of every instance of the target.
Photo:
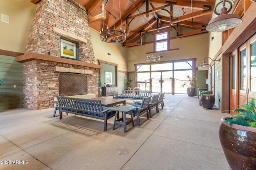
[[(59, 74), (54, 66), (64, 66), (81, 70), (92, 70), (96, 74), (88, 74), (88, 94), (98, 93), (98, 69), (56, 63), (43, 60), (32, 60), (23, 63), (23, 107), (29, 109), (47, 109), (54, 107), (54, 97), (59, 94)], [(92, 81), (96, 80), (96, 81)]]

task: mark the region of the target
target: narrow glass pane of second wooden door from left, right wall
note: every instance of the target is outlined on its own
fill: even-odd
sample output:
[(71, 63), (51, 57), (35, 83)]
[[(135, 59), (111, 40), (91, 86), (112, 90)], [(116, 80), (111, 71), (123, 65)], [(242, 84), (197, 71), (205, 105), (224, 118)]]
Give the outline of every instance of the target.
[(246, 89), (246, 49), (240, 51), (240, 90)]

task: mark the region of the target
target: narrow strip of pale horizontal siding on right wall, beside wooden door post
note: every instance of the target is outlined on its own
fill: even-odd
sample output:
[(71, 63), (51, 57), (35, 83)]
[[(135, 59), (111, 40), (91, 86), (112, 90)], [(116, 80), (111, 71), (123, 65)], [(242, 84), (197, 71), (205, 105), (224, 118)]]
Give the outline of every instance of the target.
[[(219, 59), (221, 55), (217, 58)], [(229, 79), (227, 78), (227, 81)], [(228, 93), (228, 92), (227, 92)], [(221, 110), (222, 95), (222, 61), (215, 62), (215, 106)]]

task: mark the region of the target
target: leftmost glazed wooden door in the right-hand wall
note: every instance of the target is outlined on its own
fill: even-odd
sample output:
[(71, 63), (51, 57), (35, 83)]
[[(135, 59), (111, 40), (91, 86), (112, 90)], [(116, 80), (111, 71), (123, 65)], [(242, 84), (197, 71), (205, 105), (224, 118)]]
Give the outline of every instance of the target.
[(231, 53), (230, 57), (230, 114), (233, 114), (233, 110), (238, 107), (238, 62), (237, 62), (238, 50)]

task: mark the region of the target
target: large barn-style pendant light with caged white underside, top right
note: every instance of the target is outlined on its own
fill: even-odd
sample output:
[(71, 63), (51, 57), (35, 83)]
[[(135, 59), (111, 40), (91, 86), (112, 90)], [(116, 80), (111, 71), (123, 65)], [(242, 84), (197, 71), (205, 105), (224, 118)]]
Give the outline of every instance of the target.
[(238, 14), (228, 14), (227, 8), (225, 7), (226, 0), (223, 1), (223, 8), (220, 10), (220, 16), (210, 20), (206, 26), (207, 31), (220, 32), (234, 28), (242, 23), (242, 19)]

